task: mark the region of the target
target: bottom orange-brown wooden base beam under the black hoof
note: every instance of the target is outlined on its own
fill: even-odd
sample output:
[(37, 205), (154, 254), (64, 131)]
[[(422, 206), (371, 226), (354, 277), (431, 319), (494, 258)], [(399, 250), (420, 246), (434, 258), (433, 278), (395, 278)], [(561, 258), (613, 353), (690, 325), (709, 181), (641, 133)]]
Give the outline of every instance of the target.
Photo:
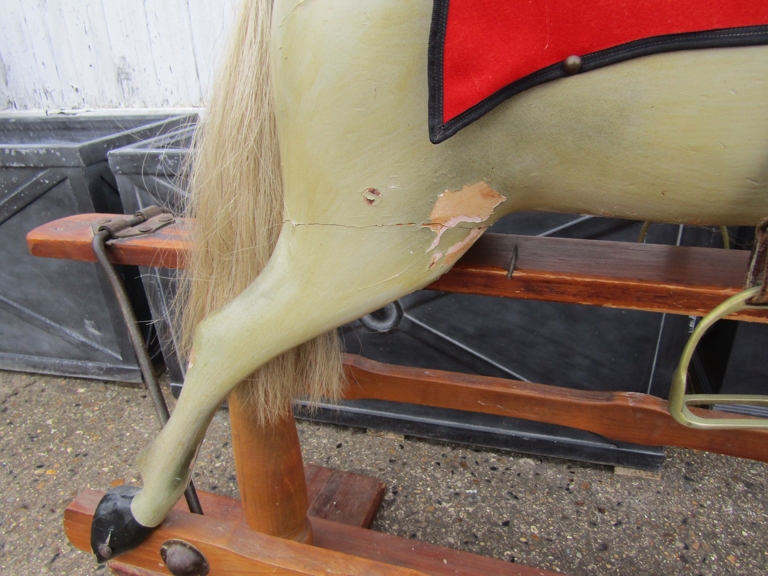
[[(64, 530), (77, 548), (90, 552), (90, 526), (102, 492), (85, 490), (64, 512)], [(535, 568), (475, 556), (458, 550), (415, 542), (407, 538), (355, 528), (336, 522), (312, 520), (316, 542), (310, 547), (248, 529), (236, 500), (223, 501), (200, 492), (205, 516), (172, 510), (150, 538), (120, 562), (168, 574), (159, 549), (169, 538), (179, 538), (198, 548), (211, 566), (211, 574), (276, 574), (311, 576), (434, 576), (482, 575), (553, 576)], [(217, 504), (226, 516), (220, 516)]]

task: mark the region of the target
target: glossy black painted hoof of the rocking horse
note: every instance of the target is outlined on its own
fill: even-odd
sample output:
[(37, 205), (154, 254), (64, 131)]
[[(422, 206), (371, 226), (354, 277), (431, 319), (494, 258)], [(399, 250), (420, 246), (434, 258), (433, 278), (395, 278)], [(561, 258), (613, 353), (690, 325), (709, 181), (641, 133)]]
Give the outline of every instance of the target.
[(99, 564), (133, 550), (152, 533), (131, 513), (133, 497), (140, 491), (133, 486), (118, 486), (107, 492), (96, 507), (91, 524), (91, 550)]

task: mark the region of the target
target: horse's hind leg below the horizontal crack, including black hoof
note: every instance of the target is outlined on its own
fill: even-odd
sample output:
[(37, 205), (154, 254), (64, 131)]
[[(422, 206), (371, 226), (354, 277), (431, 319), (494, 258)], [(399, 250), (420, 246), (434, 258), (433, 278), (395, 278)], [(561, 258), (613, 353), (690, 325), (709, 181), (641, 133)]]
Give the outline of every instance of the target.
[(143, 488), (105, 496), (94, 517), (99, 560), (136, 547), (163, 520), (211, 418), (239, 382), (278, 354), (425, 286), (482, 230), (452, 229), (441, 249), (432, 247), (435, 232), (418, 225), (285, 224), (261, 275), (198, 326), (181, 398), (139, 458)]

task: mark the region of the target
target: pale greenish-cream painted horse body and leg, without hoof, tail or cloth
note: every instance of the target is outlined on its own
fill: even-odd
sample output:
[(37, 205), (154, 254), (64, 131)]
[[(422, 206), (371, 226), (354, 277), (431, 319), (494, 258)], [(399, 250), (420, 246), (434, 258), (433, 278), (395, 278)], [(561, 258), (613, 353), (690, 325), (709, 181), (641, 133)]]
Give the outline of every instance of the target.
[(176, 502), (212, 414), (275, 355), (419, 289), (505, 214), (755, 224), (768, 216), (768, 47), (671, 52), (538, 86), (446, 142), (427, 129), (430, 0), (276, 0), (285, 222), (204, 320), (132, 512)]

